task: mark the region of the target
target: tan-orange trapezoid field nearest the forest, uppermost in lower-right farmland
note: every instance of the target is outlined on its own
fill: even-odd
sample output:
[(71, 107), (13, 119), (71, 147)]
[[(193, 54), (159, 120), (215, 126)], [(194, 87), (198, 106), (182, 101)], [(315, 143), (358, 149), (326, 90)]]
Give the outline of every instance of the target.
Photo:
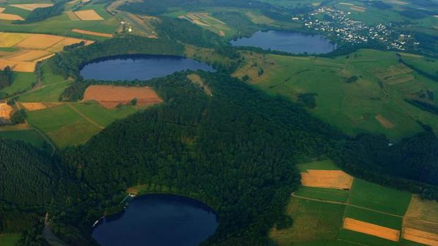
[(308, 187), (350, 190), (353, 177), (341, 170), (307, 170), (301, 173), (301, 183)]

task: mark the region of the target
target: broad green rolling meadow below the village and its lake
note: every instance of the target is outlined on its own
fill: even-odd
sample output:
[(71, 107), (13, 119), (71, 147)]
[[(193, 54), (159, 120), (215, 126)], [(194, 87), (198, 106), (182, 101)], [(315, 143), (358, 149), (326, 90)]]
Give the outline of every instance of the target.
[[(334, 59), (243, 54), (246, 63), (234, 73), (236, 77), (249, 76), (250, 84), (303, 104), (348, 135), (386, 134), (398, 141), (422, 132), (418, 121), (438, 130), (437, 115), (405, 101), (426, 91), (436, 94), (438, 84), (400, 63), (395, 52), (362, 49)], [(408, 60), (433, 74), (432, 61)], [(433, 97), (428, 103), (438, 105)]]

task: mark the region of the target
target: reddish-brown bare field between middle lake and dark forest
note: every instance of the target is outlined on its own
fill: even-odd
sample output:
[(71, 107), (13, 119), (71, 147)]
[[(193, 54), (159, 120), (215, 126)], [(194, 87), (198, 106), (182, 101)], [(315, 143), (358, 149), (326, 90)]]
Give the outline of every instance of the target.
[(107, 109), (119, 104), (127, 104), (137, 99), (137, 105), (146, 106), (162, 102), (158, 94), (150, 87), (122, 87), (112, 85), (91, 85), (85, 90), (84, 101), (95, 100)]

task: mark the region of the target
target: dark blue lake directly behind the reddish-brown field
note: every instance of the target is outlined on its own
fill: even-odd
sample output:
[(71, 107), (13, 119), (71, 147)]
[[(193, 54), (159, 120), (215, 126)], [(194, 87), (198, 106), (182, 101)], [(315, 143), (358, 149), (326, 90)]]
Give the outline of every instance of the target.
[(92, 61), (83, 66), (81, 75), (95, 80), (149, 80), (183, 70), (214, 71), (206, 63), (181, 56), (126, 55)]

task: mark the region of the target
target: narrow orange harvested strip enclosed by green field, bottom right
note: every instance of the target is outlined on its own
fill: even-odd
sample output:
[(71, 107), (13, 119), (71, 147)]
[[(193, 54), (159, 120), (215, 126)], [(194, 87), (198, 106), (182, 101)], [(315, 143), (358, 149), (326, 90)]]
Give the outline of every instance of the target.
[(400, 230), (394, 230), (384, 226), (378, 226), (365, 221), (357, 221), (351, 218), (345, 218), (343, 228), (346, 230), (353, 230), (358, 233), (373, 235), (375, 237), (384, 238), (394, 242), (398, 242), (400, 238)]

